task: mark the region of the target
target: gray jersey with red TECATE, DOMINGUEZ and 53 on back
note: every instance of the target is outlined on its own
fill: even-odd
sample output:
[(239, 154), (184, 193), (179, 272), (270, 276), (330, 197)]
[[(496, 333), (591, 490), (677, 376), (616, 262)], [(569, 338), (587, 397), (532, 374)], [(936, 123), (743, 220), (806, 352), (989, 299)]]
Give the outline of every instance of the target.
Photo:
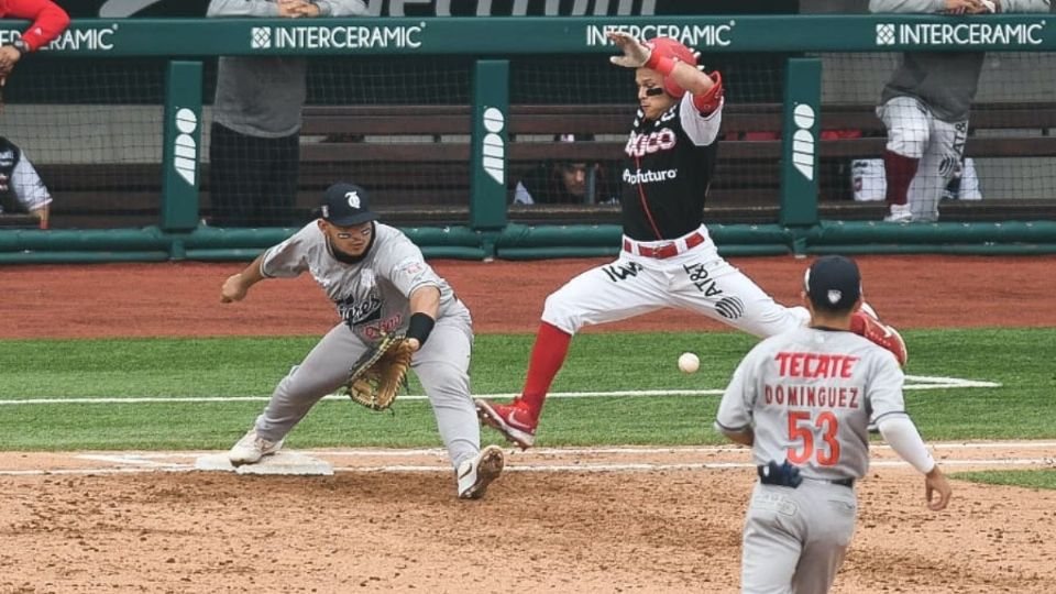
[(799, 328), (760, 342), (734, 374), (716, 426), (755, 432), (757, 464), (813, 479), (861, 477), (870, 421), (905, 415), (894, 356), (851, 332)]

